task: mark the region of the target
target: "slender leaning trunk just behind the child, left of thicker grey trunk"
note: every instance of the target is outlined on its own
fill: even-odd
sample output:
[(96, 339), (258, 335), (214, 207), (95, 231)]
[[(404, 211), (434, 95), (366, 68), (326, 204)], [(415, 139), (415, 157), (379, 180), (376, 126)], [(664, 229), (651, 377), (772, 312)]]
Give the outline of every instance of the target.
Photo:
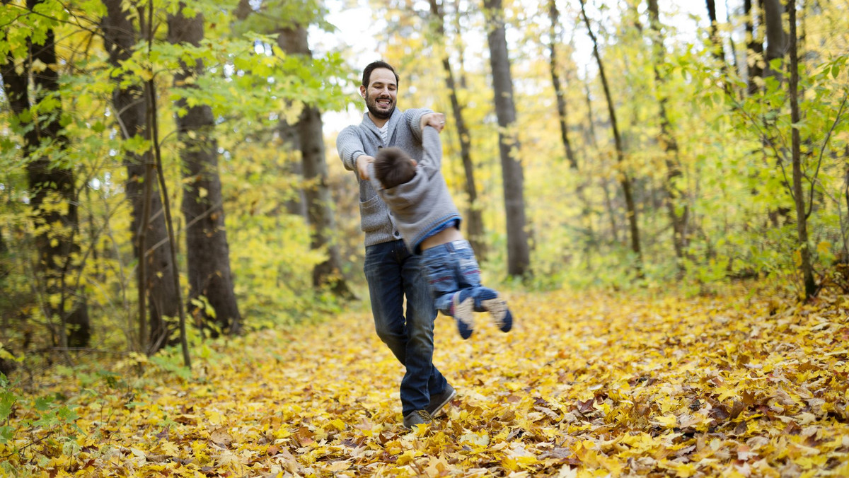
[(448, 53), (444, 50), (445, 43), (445, 16), (436, 3), (436, 0), (430, 0), (430, 14), (433, 15), (436, 22), (436, 35), (438, 42), (443, 43), (442, 51), (442, 70), (445, 71), (445, 85), (448, 89), (448, 96), (451, 99), (451, 110), (454, 115), (454, 122), (457, 127), (457, 136), (460, 141), (460, 158), (463, 160), (463, 170), (466, 175), (465, 189), (469, 196), (469, 209), (466, 210), (466, 232), (469, 235), (469, 244), (475, 250), (479, 261), (483, 261), (486, 257), (486, 241), (484, 240), (483, 215), (481, 207), (478, 203), (477, 186), (475, 185), (475, 164), (471, 157), (471, 138), (469, 135), (469, 127), (466, 127), (466, 122), (463, 117), (463, 107), (460, 106), (460, 101), (457, 97), (457, 85), (454, 83), (454, 75), (451, 70), (451, 61), (448, 59)]

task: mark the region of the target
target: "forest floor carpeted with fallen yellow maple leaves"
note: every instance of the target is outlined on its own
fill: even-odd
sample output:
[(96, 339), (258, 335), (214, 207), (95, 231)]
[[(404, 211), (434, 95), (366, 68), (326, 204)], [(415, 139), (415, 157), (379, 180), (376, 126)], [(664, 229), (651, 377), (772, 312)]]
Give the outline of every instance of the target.
[(42, 401), (52, 418), (33, 423), (30, 396), (11, 405), (0, 462), (50, 477), (849, 475), (846, 296), (509, 300), (508, 334), (479, 314), (461, 340), (437, 319), (458, 397), (432, 425), (402, 427), (402, 367), (351, 312), (200, 346), (190, 376), (166, 370), (176, 352), (65, 370), (38, 391), (65, 400)]

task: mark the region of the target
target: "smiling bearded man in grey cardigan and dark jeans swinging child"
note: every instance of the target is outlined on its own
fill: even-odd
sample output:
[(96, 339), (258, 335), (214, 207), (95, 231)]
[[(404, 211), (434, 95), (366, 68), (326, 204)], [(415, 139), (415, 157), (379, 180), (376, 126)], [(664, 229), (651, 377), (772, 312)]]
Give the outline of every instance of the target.
[[(396, 109), (398, 76), (391, 65), (375, 61), (363, 70), (360, 95), (368, 112), (359, 125), (343, 129), (336, 149), (346, 169), (357, 172), (360, 226), (365, 233), (363, 270), (371, 297), (374, 329), (407, 371), (401, 380), (403, 424), (427, 424), (456, 395), (433, 365), (436, 308), (419, 267), (401, 239), (389, 208), (369, 183), (368, 164), (378, 149), (396, 146), (421, 157), (425, 126), (442, 130), (445, 116), (431, 110)], [(406, 317), (403, 309), (407, 298)]]

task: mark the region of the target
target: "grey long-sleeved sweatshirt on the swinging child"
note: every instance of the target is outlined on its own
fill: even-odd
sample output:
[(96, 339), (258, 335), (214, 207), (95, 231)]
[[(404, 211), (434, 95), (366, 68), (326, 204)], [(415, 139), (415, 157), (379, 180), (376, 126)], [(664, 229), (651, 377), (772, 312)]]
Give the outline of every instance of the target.
[(442, 144), (436, 129), (424, 127), (422, 146), (424, 155), (419, 156), (416, 175), (395, 188), (383, 188), (374, 177), (374, 166), (368, 167), (372, 186), (389, 206), (404, 244), (413, 254), (419, 254), (422, 241), (447, 222), (456, 221), (459, 227), (460, 221), (460, 213), (442, 176)]

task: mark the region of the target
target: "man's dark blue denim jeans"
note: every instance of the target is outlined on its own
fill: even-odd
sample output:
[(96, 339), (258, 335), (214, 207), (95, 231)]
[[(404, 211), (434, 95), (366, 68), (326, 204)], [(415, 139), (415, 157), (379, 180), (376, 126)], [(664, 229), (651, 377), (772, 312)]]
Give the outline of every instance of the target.
[[(419, 267), (419, 256), (396, 240), (366, 248), (363, 271), (368, 281), (374, 329), (380, 340), (407, 368), (401, 380), (402, 412), (423, 410), (430, 396), (447, 381), (433, 365), (433, 322), (436, 309)], [(404, 296), (407, 314), (404, 315)]]

